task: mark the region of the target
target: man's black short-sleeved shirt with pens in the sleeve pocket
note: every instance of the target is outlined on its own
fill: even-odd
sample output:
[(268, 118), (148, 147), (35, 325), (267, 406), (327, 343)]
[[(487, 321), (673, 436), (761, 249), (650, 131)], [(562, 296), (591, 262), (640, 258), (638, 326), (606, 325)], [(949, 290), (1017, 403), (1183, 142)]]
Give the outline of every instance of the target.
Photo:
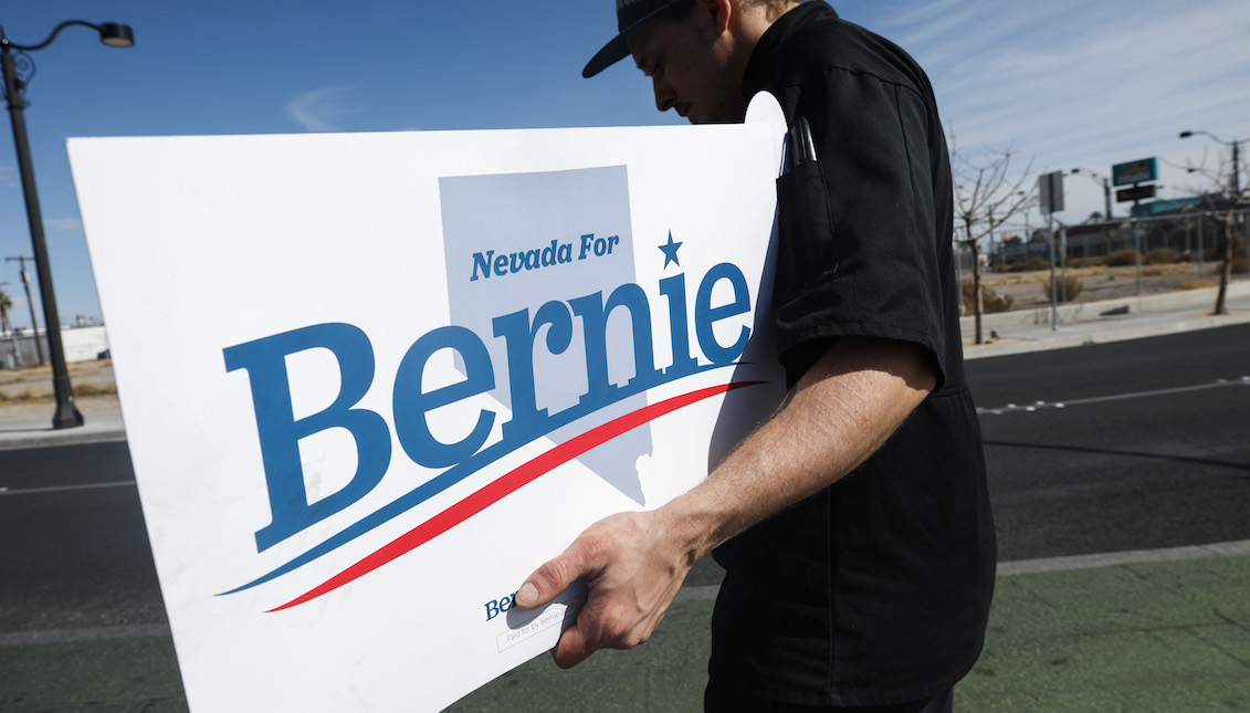
[(840, 338), (870, 336), (922, 348), (938, 388), (854, 473), (718, 548), (711, 680), (798, 704), (920, 699), (980, 653), (995, 559), (941, 121), (906, 53), (819, 0), (761, 38), (744, 94), (760, 90), (809, 121), (819, 170), (798, 180), (824, 199), (806, 208), (815, 230), (781, 221), (774, 309), (789, 379)]

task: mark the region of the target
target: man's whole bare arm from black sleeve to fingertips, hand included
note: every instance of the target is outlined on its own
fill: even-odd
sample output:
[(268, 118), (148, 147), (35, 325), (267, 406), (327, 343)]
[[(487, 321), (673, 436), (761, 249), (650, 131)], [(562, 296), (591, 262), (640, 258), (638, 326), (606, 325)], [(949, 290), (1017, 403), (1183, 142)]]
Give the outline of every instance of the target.
[(518, 605), (540, 607), (585, 580), (586, 604), (554, 650), (561, 667), (645, 642), (699, 558), (851, 472), (932, 385), (932, 368), (914, 346), (840, 340), (800, 379), (786, 408), (708, 480), (658, 510), (599, 520), (530, 574)]

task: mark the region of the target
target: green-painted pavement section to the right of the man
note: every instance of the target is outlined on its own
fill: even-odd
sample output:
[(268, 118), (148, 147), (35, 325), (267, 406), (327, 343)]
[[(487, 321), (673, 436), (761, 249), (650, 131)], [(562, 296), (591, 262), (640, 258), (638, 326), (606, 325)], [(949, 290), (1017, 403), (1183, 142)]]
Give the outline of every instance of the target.
[(966, 710), (1250, 710), (1250, 558), (1000, 577)]

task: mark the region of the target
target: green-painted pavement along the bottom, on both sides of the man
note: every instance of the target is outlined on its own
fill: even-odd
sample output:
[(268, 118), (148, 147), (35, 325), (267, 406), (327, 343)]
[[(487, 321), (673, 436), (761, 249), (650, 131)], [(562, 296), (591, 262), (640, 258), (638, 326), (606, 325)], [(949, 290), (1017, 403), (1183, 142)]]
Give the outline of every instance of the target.
[[(679, 602), (632, 652), (572, 670), (539, 657), (451, 710), (700, 710), (710, 615)], [(16, 640), (0, 635), (2, 712), (186, 709), (168, 637)], [(1250, 557), (999, 577), (985, 653), (955, 693), (965, 712), (1250, 710)]]

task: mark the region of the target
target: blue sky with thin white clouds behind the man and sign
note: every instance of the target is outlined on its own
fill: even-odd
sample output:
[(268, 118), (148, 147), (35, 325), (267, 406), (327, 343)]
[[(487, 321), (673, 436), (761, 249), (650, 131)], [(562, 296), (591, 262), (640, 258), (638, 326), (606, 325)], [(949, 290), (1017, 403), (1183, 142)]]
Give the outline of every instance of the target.
[[(1081, 166), (1109, 175), (1112, 164), (1159, 156), (1162, 195), (1190, 195), (1204, 179), (1182, 166), (1215, 168), (1226, 150), (1179, 140), (1181, 130), (1250, 138), (1245, 0), (834, 6), (920, 60), (961, 148), (1014, 145), (1019, 170), (1031, 159), (1034, 174)], [(612, 8), (611, 0), (5, 4), (0, 25), (18, 44), (42, 41), (68, 19), (135, 30), (130, 49), (70, 28), (31, 54), (38, 71), (26, 121), (61, 320), (100, 319), (66, 138), (681, 123), (655, 111), (650, 83), (631, 63), (581, 79), (581, 66), (615, 33)], [(8, 126), (0, 135), (0, 258), (30, 255)], [(1066, 221), (1102, 210), (1091, 180), (1069, 176), (1066, 196), (1059, 216)], [(16, 303), (14, 323), (29, 325), (16, 263), (0, 261), (0, 281)]]

